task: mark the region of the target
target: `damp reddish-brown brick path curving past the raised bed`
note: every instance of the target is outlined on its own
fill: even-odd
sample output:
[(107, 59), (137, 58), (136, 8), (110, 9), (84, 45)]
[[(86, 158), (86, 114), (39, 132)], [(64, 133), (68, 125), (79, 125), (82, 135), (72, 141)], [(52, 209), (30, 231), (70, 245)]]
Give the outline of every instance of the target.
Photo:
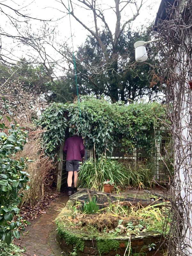
[(56, 226), (54, 219), (57, 215), (57, 206), (61, 206), (67, 201), (68, 196), (61, 194), (61, 196), (47, 208), (46, 213), (32, 221), (31, 225), (26, 228), (24, 236), (15, 243), (20, 245), (21, 248), (26, 248), (26, 252), (23, 253), (23, 256), (64, 255), (55, 239)]

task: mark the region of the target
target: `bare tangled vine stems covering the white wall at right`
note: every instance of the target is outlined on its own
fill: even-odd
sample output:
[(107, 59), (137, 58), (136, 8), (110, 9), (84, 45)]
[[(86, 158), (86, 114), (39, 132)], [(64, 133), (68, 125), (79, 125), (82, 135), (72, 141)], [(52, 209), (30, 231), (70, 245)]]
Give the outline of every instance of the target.
[[(172, 2), (172, 1), (171, 1)], [(175, 1), (157, 27), (167, 113), (174, 140), (169, 254), (192, 255), (192, 1)]]

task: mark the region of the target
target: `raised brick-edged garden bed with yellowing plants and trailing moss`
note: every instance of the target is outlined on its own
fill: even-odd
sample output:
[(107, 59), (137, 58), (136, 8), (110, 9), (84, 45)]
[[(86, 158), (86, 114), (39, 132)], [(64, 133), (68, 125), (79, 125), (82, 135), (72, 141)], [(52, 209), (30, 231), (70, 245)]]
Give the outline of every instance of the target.
[(158, 256), (166, 249), (163, 220), (153, 205), (130, 209), (113, 204), (90, 214), (69, 200), (56, 219), (57, 240), (71, 255)]

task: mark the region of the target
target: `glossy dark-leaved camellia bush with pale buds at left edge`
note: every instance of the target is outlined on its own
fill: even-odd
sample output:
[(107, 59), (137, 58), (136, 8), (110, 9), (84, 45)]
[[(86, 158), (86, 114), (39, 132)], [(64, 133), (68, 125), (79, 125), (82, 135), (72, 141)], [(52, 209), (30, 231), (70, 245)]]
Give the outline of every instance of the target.
[[(4, 113), (7, 105), (4, 104)], [(6, 116), (9, 122), (11, 119)], [(0, 112), (0, 120), (3, 113)], [(19, 238), (24, 228), (25, 220), (19, 215), (18, 208), (24, 190), (27, 188), (28, 158), (19, 158), (23, 150), (28, 132), (19, 124), (10, 124), (6, 127), (0, 122), (0, 240), (10, 244), (13, 237)], [(19, 159), (18, 159), (19, 158)]]

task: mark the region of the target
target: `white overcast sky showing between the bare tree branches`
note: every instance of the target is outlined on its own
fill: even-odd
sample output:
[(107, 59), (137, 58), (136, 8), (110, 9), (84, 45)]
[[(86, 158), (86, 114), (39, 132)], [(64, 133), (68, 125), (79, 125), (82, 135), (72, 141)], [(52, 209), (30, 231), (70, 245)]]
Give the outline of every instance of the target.
[[(58, 37), (56, 40), (60, 40), (65, 42), (68, 39), (68, 44), (71, 46), (71, 38), (70, 38), (70, 23), (69, 23), (69, 15), (64, 13), (65, 9), (64, 6), (60, 3), (60, 0), (35, 0), (31, 3), (32, 0), (16, 0), (13, 2), (12, 0), (0, 0), (0, 3), (7, 4), (8, 6), (18, 9), (18, 5), (20, 5), (21, 12), (28, 13), (31, 17), (38, 18), (38, 19), (53, 19), (58, 20), (57, 22), (50, 22), (49, 26), (55, 26), (57, 25), (57, 30), (59, 30)], [(115, 25), (116, 25), (116, 15), (115, 13), (110, 9), (110, 6), (114, 6), (115, 1), (114, 0), (98, 0), (98, 3), (101, 3), (102, 1), (102, 8), (103, 6), (106, 8), (105, 11), (105, 18), (107, 20), (107, 23), (112, 31), (114, 33), (115, 31)], [(142, 0), (137, 0), (139, 3)], [(140, 10), (140, 15), (136, 18), (136, 20), (132, 24), (132, 29), (134, 30), (140, 30), (142, 26), (148, 27), (149, 24), (151, 24), (155, 17), (156, 13), (159, 7), (161, 0), (147, 0), (145, 1), (145, 4), (143, 5), (142, 9)], [(63, 0), (63, 3), (68, 6), (68, 0)], [(28, 5), (29, 4), (29, 5)], [(134, 5), (133, 5), (134, 6)], [(132, 17), (132, 12), (134, 12), (134, 7), (131, 8), (125, 8), (126, 12), (122, 13), (122, 23), (125, 20), (128, 20), (130, 17)], [(6, 9), (6, 12), (10, 12), (10, 9)], [(82, 20), (86, 25), (92, 29), (93, 27), (93, 20), (92, 15), (90, 12), (87, 12), (83, 8), (76, 7), (74, 9), (75, 15)], [(12, 13), (14, 15), (14, 13)], [(85, 28), (83, 28), (82, 25), (80, 25), (73, 17), (70, 15), (71, 18), (71, 26), (72, 26), (72, 34), (73, 34), (73, 41), (74, 41), (74, 48), (77, 49), (77, 46), (82, 44), (87, 34), (89, 33)], [(22, 23), (21, 23), (22, 24)], [(25, 23), (23, 23), (25, 25)], [(40, 28), (40, 22), (38, 21), (32, 21), (32, 31), (36, 31)], [(11, 34), (16, 34), (17, 31), (12, 28), (12, 24), (10, 23), (10, 20), (5, 15), (1, 15), (1, 27), (4, 28), (6, 31), (10, 32)], [(19, 29), (22, 29), (19, 28)], [(102, 27), (100, 28), (102, 30)], [(127, 28), (125, 28), (126, 31)], [(16, 46), (15, 48), (13, 45), (16, 45), (16, 42), (11, 41), (11, 38), (1, 38), (2, 40), (2, 51), (7, 51), (7, 54), (10, 49), (15, 49), (14, 55), (15, 60), (21, 57), (26, 57), (30, 54), (33, 54), (33, 52), (29, 51), (29, 49), (26, 46)], [(48, 49), (49, 51), (49, 49)], [(50, 50), (50, 54), (51, 54)], [(54, 55), (54, 53), (52, 53)]]

